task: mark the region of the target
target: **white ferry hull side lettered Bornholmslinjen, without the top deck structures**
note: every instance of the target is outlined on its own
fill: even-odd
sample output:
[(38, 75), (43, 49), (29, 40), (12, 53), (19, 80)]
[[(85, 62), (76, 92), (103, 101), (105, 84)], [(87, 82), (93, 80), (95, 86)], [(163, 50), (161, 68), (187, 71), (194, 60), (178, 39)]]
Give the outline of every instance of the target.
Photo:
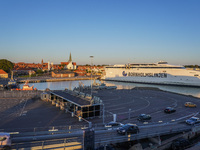
[(104, 80), (157, 85), (200, 87), (197, 71), (186, 69), (119, 69), (106, 68)]

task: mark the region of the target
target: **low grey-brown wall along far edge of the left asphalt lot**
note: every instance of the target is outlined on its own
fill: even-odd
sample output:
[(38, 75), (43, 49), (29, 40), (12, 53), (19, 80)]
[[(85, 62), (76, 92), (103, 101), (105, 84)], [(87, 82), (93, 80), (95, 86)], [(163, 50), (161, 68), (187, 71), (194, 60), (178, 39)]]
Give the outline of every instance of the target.
[(0, 98), (40, 98), (42, 91), (0, 91)]

